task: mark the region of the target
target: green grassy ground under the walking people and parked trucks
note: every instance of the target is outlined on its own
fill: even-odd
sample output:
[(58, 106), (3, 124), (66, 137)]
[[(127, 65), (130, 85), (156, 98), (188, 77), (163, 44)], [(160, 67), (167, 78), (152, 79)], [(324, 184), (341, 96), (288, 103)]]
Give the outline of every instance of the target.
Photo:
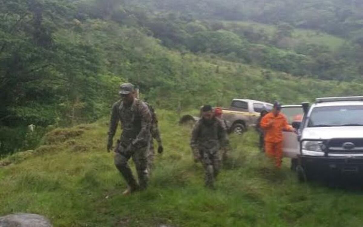
[(158, 114), (165, 152), (146, 191), (121, 195), (125, 182), (106, 152), (104, 119), (57, 129), (36, 151), (2, 160), (12, 164), (0, 168), (0, 215), (34, 212), (56, 227), (361, 226), (360, 193), (298, 183), (288, 160), (275, 170), (253, 130), (232, 136), (217, 190), (205, 189), (203, 169), (191, 158), (191, 129), (173, 113)]

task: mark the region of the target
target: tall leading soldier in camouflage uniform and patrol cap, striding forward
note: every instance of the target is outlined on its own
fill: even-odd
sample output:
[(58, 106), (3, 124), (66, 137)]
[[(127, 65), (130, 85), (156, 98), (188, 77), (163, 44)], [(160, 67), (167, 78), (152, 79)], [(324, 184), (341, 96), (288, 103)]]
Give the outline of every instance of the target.
[[(138, 189), (146, 189), (148, 183), (147, 154), (150, 146), (151, 114), (147, 105), (135, 98), (134, 85), (121, 85), (121, 100), (112, 107), (107, 151), (112, 149), (118, 121), (121, 122), (122, 133), (115, 152), (115, 165), (125, 178), (128, 189), (123, 194), (130, 194)], [(129, 159), (135, 163), (139, 183), (132, 175)]]

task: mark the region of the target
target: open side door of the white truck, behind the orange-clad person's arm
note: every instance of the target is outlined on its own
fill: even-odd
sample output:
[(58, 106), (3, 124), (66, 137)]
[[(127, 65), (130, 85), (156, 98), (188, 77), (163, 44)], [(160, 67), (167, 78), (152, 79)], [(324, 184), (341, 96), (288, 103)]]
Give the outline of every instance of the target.
[[(293, 121), (302, 120), (303, 109), (301, 105), (282, 106), (281, 112), (284, 113), (284, 115), (286, 116), (289, 125), (291, 125)], [(300, 152), (300, 144), (297, 140), (296, 133), (282, 132), (282, 135), (284, 136), (284, 140), (282, 143), (284, 157), (297, 158), (297, 155)]]

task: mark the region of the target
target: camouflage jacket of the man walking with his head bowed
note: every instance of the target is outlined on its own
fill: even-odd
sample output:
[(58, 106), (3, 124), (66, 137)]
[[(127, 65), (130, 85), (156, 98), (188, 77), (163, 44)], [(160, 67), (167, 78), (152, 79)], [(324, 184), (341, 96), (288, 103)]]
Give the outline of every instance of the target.
[(221, 146), (226, 146), (227, 143), (227, 131), (220, 119), (214, 118), (212, 124), (206, 124), (203, 119), (200, 119), (194, 125), (190, 141), (193, 151), (219, 149)]

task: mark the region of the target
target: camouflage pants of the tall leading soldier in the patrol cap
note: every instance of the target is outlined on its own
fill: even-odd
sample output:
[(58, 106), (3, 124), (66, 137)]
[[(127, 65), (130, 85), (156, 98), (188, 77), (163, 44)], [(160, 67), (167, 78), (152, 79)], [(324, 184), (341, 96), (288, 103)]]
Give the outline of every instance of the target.
[[(127, 182), (127, 185), (131, 188), (131, 190), (146, 189), (148, 183), (148, 172), (147, 172), (147, 153), (148, 153), (149, 144), (139, 149), (132, 150), (130, 152), (125, 152), (125, 149), (121, 148), (121, 145), (118, 145), (118, 148), (115, 150), (115, 166), (121, 172), (123, 178)], [(129, 159), (132, 157), (132, 160), (135, 163), (136, 171), (139, 178), (139, 184), (136, 182), (134, 176), (132, 175), (131, 168), (128, 164)]]

